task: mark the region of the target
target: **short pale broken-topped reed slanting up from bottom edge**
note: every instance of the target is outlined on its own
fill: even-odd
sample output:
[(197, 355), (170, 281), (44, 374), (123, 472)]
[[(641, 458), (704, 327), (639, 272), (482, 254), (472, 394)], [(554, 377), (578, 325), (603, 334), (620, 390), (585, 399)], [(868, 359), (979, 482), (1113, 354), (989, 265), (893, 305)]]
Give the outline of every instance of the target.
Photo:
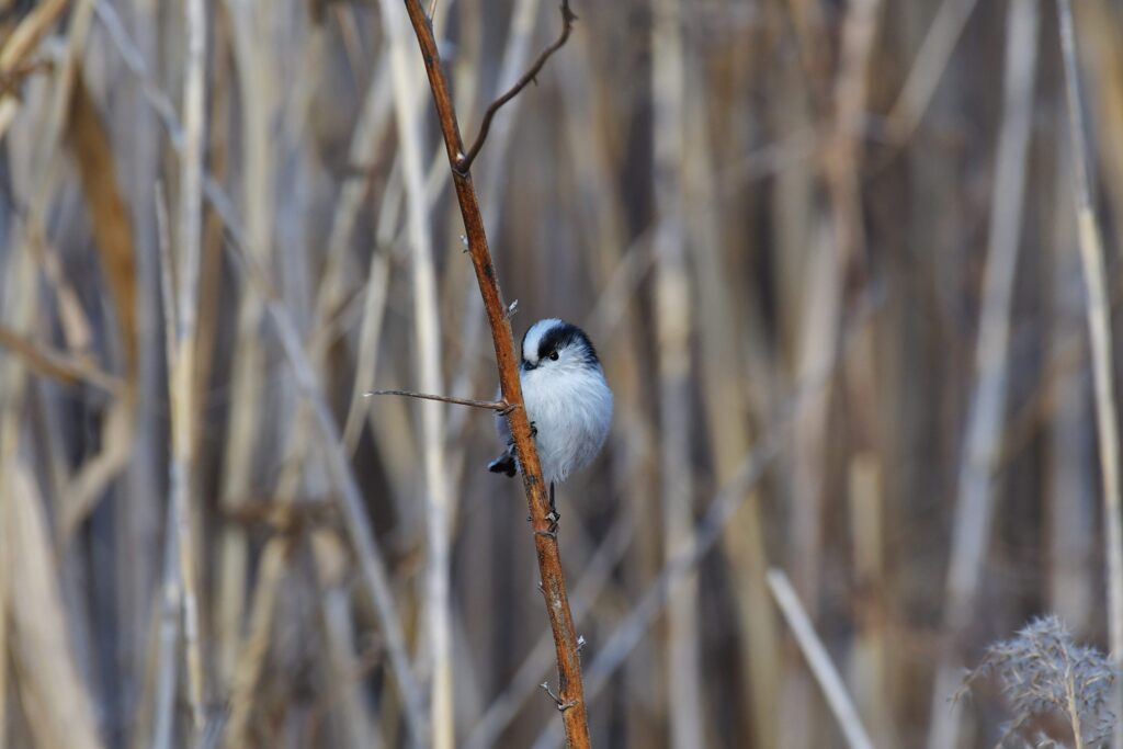
[(792, 584), (779, 569), (768, 572), (768, 590), (776, 600), (776, 606), (784, 614), (784, 620), (792, 629), (792, 634), (800, 645), (807, 666), (814, 674), (819, 687), (827, 697), (827, 703), (838, 721), (842, 734), (846, 737), (847, 746), (850, 749), (873, 749), (874, 743), (869, 740), (866, 729), (861, 724), (858, 711), (855, 710), (853, 702), (846, 691), (846, 684), (839, 676), (838, 669), (831, 663), (830, 654), (823, 647), (822, 641), (815, 633), (815, 628), (807, 618), (807, 612), (803, 610), (800, 597), (796, 595)]

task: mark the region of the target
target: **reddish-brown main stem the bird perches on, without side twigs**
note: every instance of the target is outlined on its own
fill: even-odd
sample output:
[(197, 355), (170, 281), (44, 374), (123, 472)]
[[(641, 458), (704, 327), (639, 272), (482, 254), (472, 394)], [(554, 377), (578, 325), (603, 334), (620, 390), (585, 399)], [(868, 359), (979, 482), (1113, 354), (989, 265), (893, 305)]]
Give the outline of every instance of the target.
[(546, 519), (549, 512), (549, 501), (542, 482), (541, 467), (538, 464), (538, 453), (530, 433), (530, 421), (527, 419), (526, 410), (521, 408), (522, 389), (519, 384), (519, 367), (514, 353), (514, 341), (511, 337), (511, 325), (504, 314), (505, 307), (499, 289), (499, 281), (495, 277), (495, 266), (492, 265), (491, 252), (487, 248), (487, 236), (484, 231), (484, 221), (480, 212), (476, 191), (472, 184), (472, 175), (467, 170), (459, 167), (464, 157), (464, 144), (460, 139), (460, 129), (448, 90), (448, 80), (440, 65), (440, 55), (432, 35), (432, 26), (419, 0), (405, 0), (405, 10), (413, 25), (413, 31), (417, 34), (418, 45), (421, 47), (426, 73), (429, 76), (429, 88), (432, 90), (433, 103), (437, 107), (440, 130), (448, 153), (448, 165), (456, 185), (456, 199), (460, 207), (465, 235), (468, 239), (468, 253), (472, 256), (472, 265), (480, 284), (480, 294), (483, 298), (487, 322), (491, 327), (503, 400), (515, 407), (508, 414), (508, 422), (511, 426), (515, 451), (522, 466), (522, 485), (527, 493), (531, 524), (535, 529), (535, 550), (538, 555), (542, 594), (546, 596), (546, 610), (550, 620), (550, 629), (554, 632), (558, 664), (558, 709), (562, 711), (565, 723), (566, 743), (575, 749), (583, 749), (590, 746), (590, 740), (577, 634), (574, 631), (573, 615), (569, 611), (557, 537), (550, 532), (550, 523)]

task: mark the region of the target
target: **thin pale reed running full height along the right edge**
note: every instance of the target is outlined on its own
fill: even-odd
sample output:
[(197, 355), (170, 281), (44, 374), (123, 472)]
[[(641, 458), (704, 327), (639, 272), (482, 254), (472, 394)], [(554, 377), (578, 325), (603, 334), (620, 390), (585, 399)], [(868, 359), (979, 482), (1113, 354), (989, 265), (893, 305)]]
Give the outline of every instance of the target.
[[(1103, 239), (1096, 221), (1092, 181), (1088, 176), (1088, 146), (1084, 137), (1079, 74), (1076, 61), (1076, 33), (1069, 0), (1058, 0), (1061, 56), (1065, 64), (1065, 90), (1068, 101), (1068, 127), (1072, 143), (1074, 200), (1077, 237), (1087, 286), (1088, 332), (1092, 341), (1092, 374), (1095, 389), (1096, 433), (1099, 438), (1099, 471), (1104, 493), (1104, 556), (1107, 557), (1107, 630), (1111, 656), (1123, 663), (1123, 503), (1120, 500), (1119, 411), (1113, 380), (1111, 311)], [(1115, 685), (1116, 712), (1123, 705), (1123, 683)], [(1112, 734), (1114, 749), (1123, 749), (1123, 721), (1116, 721)]]

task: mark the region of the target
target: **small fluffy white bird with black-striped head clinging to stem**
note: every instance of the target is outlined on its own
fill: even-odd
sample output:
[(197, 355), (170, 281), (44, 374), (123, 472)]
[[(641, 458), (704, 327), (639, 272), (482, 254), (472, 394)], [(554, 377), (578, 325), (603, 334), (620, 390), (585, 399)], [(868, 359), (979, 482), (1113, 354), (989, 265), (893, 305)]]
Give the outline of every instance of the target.
[[(550, 484), (550, 520), (556, 523), (554, 484), (587, 466), (601, 451), (612, 421), (612, 391), (596, 349), (575, 325), (557, 318), (539, 320), (522, 336), (521, 354), (523, 405), (542, 477)], [(506, 449), (487, 469), (513, 476), (518, 462), (506, 419), (496, 417), (495, 428)]]

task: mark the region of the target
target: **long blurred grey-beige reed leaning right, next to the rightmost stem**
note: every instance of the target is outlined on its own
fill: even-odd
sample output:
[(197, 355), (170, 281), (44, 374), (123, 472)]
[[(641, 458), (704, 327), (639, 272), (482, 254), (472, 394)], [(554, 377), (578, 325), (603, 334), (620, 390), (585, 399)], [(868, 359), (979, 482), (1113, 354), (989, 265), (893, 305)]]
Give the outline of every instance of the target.
[(943, 632), (948, 640), (937, 667), (932, 691), (929, 749), (950, 749), (958, 743), (959, 711), (948, 710), (947, 700), (959, 683), (957, 645), (971, 622), (989, 545), (994, 515), (994, 462), (1002, 451), (1005, 422), (1011, 310), (1037, 68), (1035, 1), (1012, 0), (1007, 28), (1003, 116), (990, 202), (983, 309), (975, 349), (977, 382), (960, 460), (943, 603)]

